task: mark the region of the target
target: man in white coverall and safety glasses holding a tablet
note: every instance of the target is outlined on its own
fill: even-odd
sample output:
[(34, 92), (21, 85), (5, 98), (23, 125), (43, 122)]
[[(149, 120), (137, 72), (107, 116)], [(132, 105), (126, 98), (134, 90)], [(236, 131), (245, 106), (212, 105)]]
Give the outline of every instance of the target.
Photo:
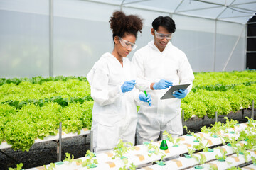
[[(184, 52), (171, 44), (175, 22), (169, 16), (159, 16), (152, 22), (154, 41), (134, 53), (132, 62), (137, 69), (137, 85), (151, 94), (151, 107), (143, 103), (137, 120), (137, 145), (156, 141), (163, 132), (178, 137), (183, 132), (181, 99), (192, 89), (193, 71)], [(169, 87), (191, 84), (188, 89), (176, 91), (174, 96), (161, 100)]]

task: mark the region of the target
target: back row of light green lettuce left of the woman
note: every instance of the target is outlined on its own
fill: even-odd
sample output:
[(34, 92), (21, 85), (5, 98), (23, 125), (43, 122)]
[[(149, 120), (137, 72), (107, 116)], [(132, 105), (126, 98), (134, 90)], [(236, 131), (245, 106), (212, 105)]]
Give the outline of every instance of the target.
[(66, 81), (44, 81), (33, 84), (31, 81), (22, 81), (17, 84), (2, 84), (0, 86), (0, 103), (6, 101), (28, 101), (29, 99), (45, 99), (55, 96), (62, 98), (83, 98), (90, 96), (88, 81), (68, 79)]

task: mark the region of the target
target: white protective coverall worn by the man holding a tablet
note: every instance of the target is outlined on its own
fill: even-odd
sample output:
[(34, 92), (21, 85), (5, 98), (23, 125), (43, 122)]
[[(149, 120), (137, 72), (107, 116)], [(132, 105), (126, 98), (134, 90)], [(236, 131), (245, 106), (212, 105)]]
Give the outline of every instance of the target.
[(151, 94), (151, 107), (142, 103), (137, 120), (137, 144), (157, 140), (160, 132), (170, 132), (173, 137), (182, 134), (181, 100), (160, 100), (168, 89), (151, 90), (150, 84), (166, 79), (176, 84), (193, 83), (193, 71), (184, 52), (168, 42), (163, 52), (151, 41), (137, 50), (132, 58), (137, 69), (137, 85)]

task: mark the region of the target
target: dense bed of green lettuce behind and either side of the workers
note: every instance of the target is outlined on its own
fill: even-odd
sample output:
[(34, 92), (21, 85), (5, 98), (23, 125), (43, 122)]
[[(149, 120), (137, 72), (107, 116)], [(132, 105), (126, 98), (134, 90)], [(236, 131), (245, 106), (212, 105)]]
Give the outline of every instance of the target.
[[(224, 90), (221, 88), (206, 88), (208, 85), (206, 83), (203, 84), (200, 80), (203, 79), (203, 82), (206, 80), (210, 81), (210, 77), (215, 80), (218, 79), (218, 81), (211, 81), (214, 86), (219, 86), (218, 82), (220, 82), (228, 86), (228, 88)], [(191, 118), (192, 115), (202, 118), (206, 114), (209, 118), (213, 118), (215, 111), (225, 115), (230, 113), (230, 111), (238, 111), (241, 106), (243, 108), (251, 106), (252, 99), (255, 99), (255, 77), (256, 72), (206, 72), (195, 74), (193, 89), (196, 90), (192, 90), (182, 100), (185, 118)], [(237, 84), (233, 84), (232, 88), (230, 88), (230, 85), (227, 85), (228, 79), (230, 79), (230, 82), (233, 82), (235, 79), (234, 82)], [(33, 77), (32, 79), (14, 78), (0, 80), (0, 141), (6, 140), (9, 144), (14, 145), (14, 149), (28, 149), (33, 144), (35, 137), (43, 138), (48, 134), (54, 135), (55, 133), (51, 130), (58, 129), (58, 122), (60, 120), (64, 123), (65, 132), (75, 132), (75, 130), (79, 131), (85, 127), (90, 128), (93, 101), (90, 98), (90, 85), (85, 77)], [(82, 110), (70, 109), (70, 113), (73, 116), (65, 117), (65, 110), (74, 106)], [(85, 109), (83, 106), (88, 108)], [(61, 115), (60, 118), (54, 112), (55, 109), (53, 108), (55, 107), (59, 109), (58, 114)], [(31, 111), (31, 108), (34, 110)], [(34, 113), (38, 114), (35, 115)], [(50, 115), (50, 113), (53, 114)], [(77, 117), (75, 114), (81, 117), (75, 119)], [(38, 117), (34, 118), (34, 115)], [(45, 118), (44, 116), (48, 117)], [(53, 118), (50, 116), (53, 116)], [(19, 119), (19, 117), (22, 118)], [(55, 119), (56, 121), (53, 121), (53, 125), (43, 122)], [(68, 128), (65, 127), (65, 120), (70, 123), (66, 125)], [(82, 123), (72, 123), (77, 120), (82, 121)], [(26, 140), (22, 140), (23, 138), (18, 140), (18, 137), (15, 138), (15, 134), (11, 133), (11, 131), (13, 133), (17, 132), (16, 136), (18, 136), (18, 130), (26, 129), (25, 127), (31, 128), (33, 132), (29, 134), (30, 137), (22, 135), (22, 132), (21, 136), (30, 139), (31, 142), (26, 142)], [(14, 129), (16, 129), (16, 132)], [(48, 130), (48, 132), (41, 132), (40, 129)], [(14, 137), (9, 135), (9, 132)], [(34, 136), (36, 132), (37, 135)], [(18, 142), (21, 142), (22, 145), (19, 146)], [(26, 146), (23, 146), (23, 144)]]

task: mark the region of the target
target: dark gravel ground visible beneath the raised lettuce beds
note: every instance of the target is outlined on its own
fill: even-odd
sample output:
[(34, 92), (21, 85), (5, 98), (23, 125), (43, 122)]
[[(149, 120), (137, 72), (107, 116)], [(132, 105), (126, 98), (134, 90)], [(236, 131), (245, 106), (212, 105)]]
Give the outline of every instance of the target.
[[(233, 118), (234, 120), (239, 120), (240, 123), (247, 121), (245, 117), (251, 117), (252, 110), (238, 111), (237, 113), (230, 113), (225, 115), (228, 118)], [(256, 113), (255, 113), (256, 114)], [(220, 116), (221, 117), (221, 116)], [(256, 116), (255, 116), (256, 118)], [(218, 121), (225, 123), (224, 118), (218, 118)], [(203, 125), (210, 126), (214, 124), (215, 120), (205, 118), (191, 118), (184, 122), (184, 125), (188, 126), (188, 130), (191, 132), (200, 132)], [(185, 133), (186, 131), (184, 131)], [(70, 137), (63, 140), (62, 143), (62, 158), (65, 159), (65, 152), (73, 154), (75, 158), (85, 157), (85, 152), (90, 149), (90, 135), (87, 135), (86, 141), (85, 137)], [(29, 169), (37, 166), (42, 166), (44, 164), (50, 164), (50, 162), (57, 162), (57, 144), (56, 142), (41, 142), (34, 144), (29, 152), (14, 151), (13, 149), (1, 149), (0, 150), (0, 170), (8, 169), (8, 167), (16, 167), (16, 164), (22, 162), (24, 169)], [(5, 154), (13, 157), (18, 162), (10, 159)]]

